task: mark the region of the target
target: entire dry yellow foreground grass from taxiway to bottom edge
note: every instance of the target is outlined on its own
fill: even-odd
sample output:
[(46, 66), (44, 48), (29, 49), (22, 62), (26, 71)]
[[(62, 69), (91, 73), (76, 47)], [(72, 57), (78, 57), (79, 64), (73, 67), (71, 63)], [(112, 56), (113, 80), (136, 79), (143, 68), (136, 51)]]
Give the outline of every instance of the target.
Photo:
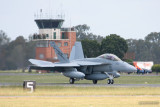
[(1, 107), (158, 107), (160, 87), (1, 87)]

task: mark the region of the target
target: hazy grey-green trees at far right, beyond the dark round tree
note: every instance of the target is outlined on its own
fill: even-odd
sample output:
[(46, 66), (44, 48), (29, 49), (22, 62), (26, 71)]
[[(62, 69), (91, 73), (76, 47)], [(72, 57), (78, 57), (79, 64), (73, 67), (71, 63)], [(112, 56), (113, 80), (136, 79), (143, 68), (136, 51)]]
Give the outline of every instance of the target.
[(145, 39), (128, 39), (128, 52), (135, 53), (136, 61), (160, 63), (160, 33), (152, 32)]

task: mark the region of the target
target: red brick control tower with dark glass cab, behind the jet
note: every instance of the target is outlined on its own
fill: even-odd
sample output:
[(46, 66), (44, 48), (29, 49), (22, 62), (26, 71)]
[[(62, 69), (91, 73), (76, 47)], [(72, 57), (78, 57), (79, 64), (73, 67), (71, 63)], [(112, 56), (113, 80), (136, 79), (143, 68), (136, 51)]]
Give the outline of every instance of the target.
[(54, 49), (49, 45), (50, 41), (54, 41), (69, 57), (76, 41), (74, 28), (62, 28), (63, 19), (36, 19), (35, 22), (39, 28), (39, 34), (32, 37), (33, 41), (36, 41), (36, 59), (58, 61)]

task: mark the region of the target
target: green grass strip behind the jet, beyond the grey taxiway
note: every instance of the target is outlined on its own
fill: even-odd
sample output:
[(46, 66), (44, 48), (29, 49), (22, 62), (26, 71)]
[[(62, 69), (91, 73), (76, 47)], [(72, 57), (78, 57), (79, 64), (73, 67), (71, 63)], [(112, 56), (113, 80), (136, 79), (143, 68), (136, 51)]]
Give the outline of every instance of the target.
[[(1, 75), (0, 83), (22, 83), (24, 80), (35, 80), (37, 83), (69, 83), (69, 78), (59, 73), (41, 75)], [(121, 76), (115, 78), (115, 84), (160, 84), (160, 76)], [(92, 83), (89, 80), (80, 80), (75, 83)], [(106, 80), (98, 81), (106, 84)]]

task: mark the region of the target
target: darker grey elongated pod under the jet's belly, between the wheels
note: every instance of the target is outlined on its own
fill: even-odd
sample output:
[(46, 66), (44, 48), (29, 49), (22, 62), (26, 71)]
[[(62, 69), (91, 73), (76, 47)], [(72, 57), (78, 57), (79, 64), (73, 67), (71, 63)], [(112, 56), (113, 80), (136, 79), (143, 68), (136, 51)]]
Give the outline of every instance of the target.
[(101, 73), (95, 73), (95, 74), (89, 74), (84, 77), (87, 80), (104, 80), (108, 78), (106, 74), (101, 74)]

